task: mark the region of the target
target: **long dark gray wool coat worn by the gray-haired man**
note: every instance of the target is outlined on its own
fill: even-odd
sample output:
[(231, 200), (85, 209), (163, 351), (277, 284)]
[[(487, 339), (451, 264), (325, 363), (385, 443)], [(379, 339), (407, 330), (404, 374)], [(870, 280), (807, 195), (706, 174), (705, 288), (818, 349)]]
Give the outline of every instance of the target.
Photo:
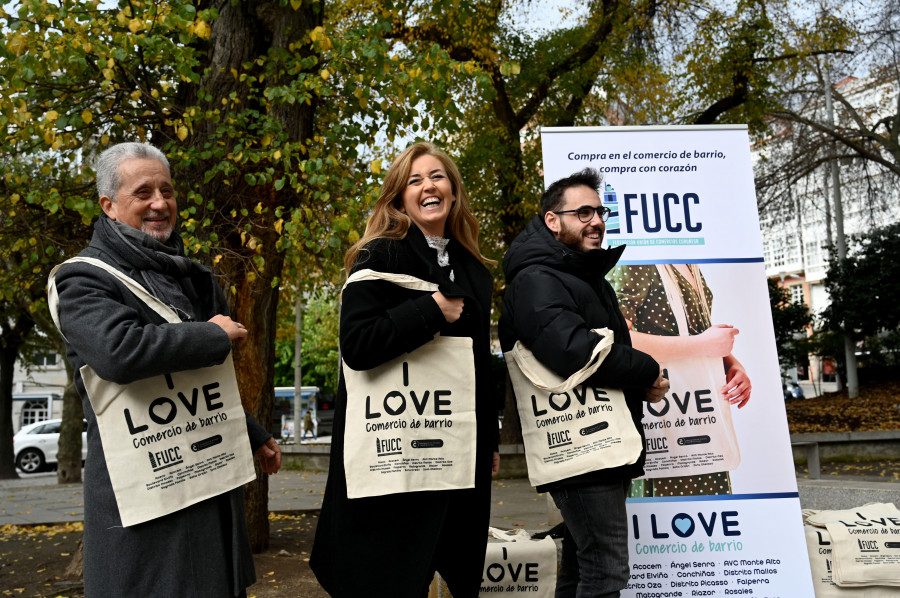
[[(141, 282), (139, 274), (95, 234), (80, 255), (98, 258)], [(106, 468), (97, 419), (79, 368), (105, 380), (141, 378), (222, 363), (228, 335), (206, 320), (227, 314), (212, 277), (193, 281), (198, 321), (167, 324), (110, 274), (90, 264), (67, 264), (56, 276), (67, 357), (88, 422), (84, 470), (84, 587), (88, 598), (238, 596), (256, 580), (243, 489), (165, 517), (122, 527)], [(270, 437), (247, 417), (251, 447)]]

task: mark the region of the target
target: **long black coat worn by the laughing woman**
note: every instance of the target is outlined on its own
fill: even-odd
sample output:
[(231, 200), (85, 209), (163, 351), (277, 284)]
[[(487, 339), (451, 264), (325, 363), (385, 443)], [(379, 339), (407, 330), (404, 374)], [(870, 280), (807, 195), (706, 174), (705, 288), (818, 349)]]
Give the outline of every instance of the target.
[(331, 464), (310, 566), (337, 598), (420, 598), (436, 568), (457, 598), (475, 597), (481, 583), (498, 398), (490, 395), (490, 307), (493, 279), (455, 240), (448, 272), (415, 226), (400, 240), (377, 240), (360, 253), (353, 271), (409, 274), (434, 282), (447, 297), (463, 297), (462, 317), (448, 324), (431, 292), (386, 281), (355, 282), (341, 305), (341, 355), (347, 366), (379, 366), (445, 336), (472, 338), (475, 353), (477, 444), (475, 488), (347, 498), (344, 426), (347, 391), (340, 378)]

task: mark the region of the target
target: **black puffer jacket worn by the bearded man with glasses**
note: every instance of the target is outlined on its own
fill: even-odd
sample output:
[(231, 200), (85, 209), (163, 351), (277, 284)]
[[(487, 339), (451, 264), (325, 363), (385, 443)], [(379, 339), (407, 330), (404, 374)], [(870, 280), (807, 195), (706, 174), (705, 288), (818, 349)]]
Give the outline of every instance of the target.
[[(503, 258), (507, 289), (500, 317), (500, 346), (509, 351), (520, 340), (541, 363), (567, 378), (588, 362), (600, 341), (591, 329), (609, 328), (613, 331), (612, 349), (588, 381), (624, 391), (643, 440), (644, 389), (656, 381), (659, 364), (631, 347), (616, 294), (604, 278), (624, 249), (573, 251), (556, 240), (543, 218), (535, 217)], [(538, 491), (635, 478), (644, 473), (644, 458), (642, 451), (631, 465), (539, 486)]]

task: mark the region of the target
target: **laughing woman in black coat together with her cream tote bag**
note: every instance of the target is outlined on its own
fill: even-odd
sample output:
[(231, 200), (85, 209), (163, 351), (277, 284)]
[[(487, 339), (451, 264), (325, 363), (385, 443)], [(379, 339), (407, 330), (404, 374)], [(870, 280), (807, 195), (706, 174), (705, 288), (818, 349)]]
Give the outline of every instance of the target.
[(435, 571), (477, 596), (491, 475), (493, 277), (453, 161), (430, 143), (393, 162), (344, 259), (342, 368), (310, 565), (337, 598), (421, 598)]

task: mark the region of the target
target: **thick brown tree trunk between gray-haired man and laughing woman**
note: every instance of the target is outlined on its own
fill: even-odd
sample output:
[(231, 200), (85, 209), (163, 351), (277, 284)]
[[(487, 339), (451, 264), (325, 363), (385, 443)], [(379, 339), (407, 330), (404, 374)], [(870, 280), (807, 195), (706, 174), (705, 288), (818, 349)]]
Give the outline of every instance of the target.
[[(312, 137), (313, 116), (317, 107), (315, 101), (290, 105), (261, 102), (258, 90), (251, 90), (247, 82), (253, 78), (245, 80), (235, 77), (233, 73), (245, 72), (245, 65), (252, 64), (258, 57), (269, 60), (274, 49), (292, 53), (311, 52), (309, 46), (300, 41), (321, 24), (321, 8), (315, 3), (303, 3), (295, 10), (292, 3), (270, 0), (220, 2), (219, 17), (213, 22), (209, 39), (210, 65), (203, 80), (193, 90), (194, 98), (188, 104), (197, 101), (201, 106), (208, 106), (210, 111), (217, 111), (223, 100), (237, 98), (244, 105), (253, 105), (260, 112), (274, 116), (289, 139), (307, 144)], [(295, 44), (302, 47), (295, 48)], [(266, 77), (264, 70), (257, 74), (259, 80)], [(269, 79), (266, 81), (268, 83)], [(281, 83), (284, 82), (272, 80), (270, 84)], [(202, 144), (203, 137), (215, 138), (218, 134), (216, 126), (210, 122), (205, 131), (195, 131), (197, 138), (192, 141)], [(254, 164), (246, 167), (252, 170), (260, 168)], [(274, 163), (272, 168), (276, 172), (274, 178), (278, 178), (283, 165)], [(187, 178), (195, 179), (196, 174), (196, 170), (184, 173)], [(233, 180), (240, 181), (241, 178), (238, 176)], [(223, 186), (218, 177), (213, 177), (200, 183), (200, 187), (203, 195), (222, 199), (221, 205), (209, 214), (214, 228), (222, 233), (220, 239), (225, 259), (216, 270), (224, 279), (232, 318), (243, 323), (249, 333), (247, 340), (239, 343), (234, 350), (241, 398), (250, 414), (263, 427), (271, 429), (275, 401), (275, 318), (279, 294), (279, 286), (273, 283), (281, 276), (284, 264), (284, 255), (276, 248), (279, 235), (275, 232), (274, 214), (279, 209), (290, 209), (300, 204), (303, 197), (287, 189), (276, 191), (271, 182)], [(223, 193), (225, 197), (222, 197)], [(246, 220), (250, 226), (238, 232), (229, 208), (241, 211), (257, 205), (263, 207), (258, 217)], [(253, 240), (253, 244), (247, 242), (248, 238)], [(268, 478), (257, 465), (257, 480), (245, 486), (247, 524), (254, 552), (265, 550), (269, 544), (268, 489)]]

